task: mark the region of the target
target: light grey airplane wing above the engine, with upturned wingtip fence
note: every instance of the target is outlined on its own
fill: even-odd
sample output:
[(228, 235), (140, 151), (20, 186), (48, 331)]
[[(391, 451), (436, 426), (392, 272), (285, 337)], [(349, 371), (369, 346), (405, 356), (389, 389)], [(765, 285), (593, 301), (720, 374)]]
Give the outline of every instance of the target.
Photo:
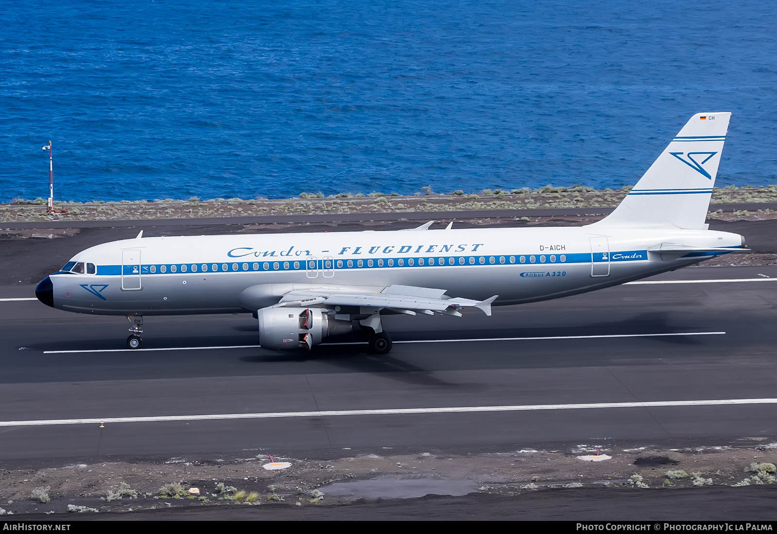
[(491, 303), (497, 299), (497, 295), (486, 300), (451, 298), (444, 293), (445, 290), (430, 287), (399, 285), (387, 286), (375, 292), (350, 291), (347, 288), (293, 290), (284, 294), (274, 307), (359, 306), (388, 308), (408, 315), (415, 315), (419, 311), (428, 315), (437, 313), (457, 317), (461, 316), (459, 309), (476, 307), (490, 316)]

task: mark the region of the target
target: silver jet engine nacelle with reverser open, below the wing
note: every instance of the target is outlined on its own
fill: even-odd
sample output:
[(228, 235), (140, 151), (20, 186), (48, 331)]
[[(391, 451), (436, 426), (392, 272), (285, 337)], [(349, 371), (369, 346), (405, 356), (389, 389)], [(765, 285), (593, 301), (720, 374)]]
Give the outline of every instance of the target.
[(263, 348), (291, 350), (318, 345), (330, 335), (353, 330), (350, 321), (339, 321), (320, 308), (262, 308), (259, 316), (259, 344)]

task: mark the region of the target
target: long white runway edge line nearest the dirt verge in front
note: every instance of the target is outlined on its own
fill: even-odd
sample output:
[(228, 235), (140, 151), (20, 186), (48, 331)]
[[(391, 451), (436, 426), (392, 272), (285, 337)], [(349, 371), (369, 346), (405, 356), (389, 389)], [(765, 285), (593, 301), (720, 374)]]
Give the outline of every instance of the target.
[(4, 426), (96, 425), (99, 423), (155, 423), (161, 421), (214, 421), (225, 419), (274, 419), (340, 417), (343, 415), (465, 414), (486, 411), (591, 410), (600, 408), (650, 408), (673, 406), (727, 406), (777, 404), (777, 399), (720, 399), (712, 401), (598, 402), (587, 404), (524, 404), (517, 406), (462, 406), (437, 408), (390, 408), (386, 410), (278, 411), (260, 414), (157, 415), (151, 417), (39, 419), (0, 421)]

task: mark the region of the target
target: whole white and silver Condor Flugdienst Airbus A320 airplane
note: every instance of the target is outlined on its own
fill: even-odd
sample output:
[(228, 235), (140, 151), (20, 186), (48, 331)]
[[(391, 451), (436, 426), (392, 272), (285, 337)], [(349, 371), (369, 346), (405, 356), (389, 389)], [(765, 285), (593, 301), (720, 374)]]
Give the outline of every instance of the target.
[(382, 314), (486, 315), (726, 254), (738, 234), (709, 231), (709, 199), (730, 113), (691, 118), (605, 219), (584, 227), (361, 231), (138, 238), (87, 248), (42, 280), (38, 299), (82, 314), (249, 312), (260, 345), (310, 349), (361, 329), (392, 348)]

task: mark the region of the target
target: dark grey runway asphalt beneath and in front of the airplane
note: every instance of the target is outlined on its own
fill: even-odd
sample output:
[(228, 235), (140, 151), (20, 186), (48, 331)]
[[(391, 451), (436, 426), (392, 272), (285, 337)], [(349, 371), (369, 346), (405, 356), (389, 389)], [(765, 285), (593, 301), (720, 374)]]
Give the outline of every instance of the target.
[[(144, 348), (174, 350), (122, 351), (124, 317), (2, 300), (0, 459), (260, 448), (298, 456), (382, 447), (465, 452), (777, 435), (777, 267), (702, 267), (657, 278), (692, 279), (754, 281), (630, 284), (499, 307), (493, 317), (476, 310), (386, 317), (384, 328), (406, 343), (382, 356), (365, 345), (312, 353), (202, 348), (256, 345), (248, 314), (148, 317)], [(0, 298), (30, 293), (30, 286), (0, 287)], [(461, 339), (480, 341), (450, 342)], [(441, 340), (448, 342), (429, 342)], [(757, 401), (676, 403), (743, 399)], [(537, 409), (549, 404), (557, 406)], [(342, 413), (354, 410), (368, 412)], [(235, 418), (241, 414), (254, 415)], [(138, 421), (157, 416), (169, 419)], [(76, 421), (83, 418), (135, 421), (99, 428)], [(64, 423), (40, 422), (54, 419)]]

